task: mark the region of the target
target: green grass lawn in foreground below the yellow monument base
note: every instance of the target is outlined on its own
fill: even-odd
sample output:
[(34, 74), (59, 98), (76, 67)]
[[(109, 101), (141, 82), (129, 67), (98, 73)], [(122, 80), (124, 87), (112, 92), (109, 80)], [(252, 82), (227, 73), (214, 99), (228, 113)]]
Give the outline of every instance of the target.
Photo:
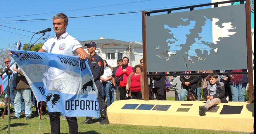
[[(168, 97), (168, 100), (173, 100), (172, 97)], [(32, 108), (33, 112), (35, 108)], [(42, 116), (41, 129), (39, 130), (39, 118), (35, 114), (32, 115), (31, 120), (26, 120), (25, 116), (21, 116), (20, 119), (11, 120), (10, 132), (12, 134), (45, 134), (51, 133), (50, 120), (46, 118), (48, 115)], [(230, 132), (230, 131), (214, 131), (214, 130), (199, 130), (199, 129), (184, 129), (184, 128), (174, 128), (174, 127), (155, 127), (155, 126), (138, 126), (138, 125), (120, 125), (120, 124), (108, 124), (100, 125), (99, 119), (94, 119), (93, 124), (80, 124), (84, 121), (84, 117), (77, 117), (78, 121), (78, 131), (79, 133), (86, 134), (115, 134), (115, 133), (125, 133), (125, 134), (194, 134), (194, 133), (208, 133), (208, 134), (239, 134), (240, 132)], [(154, 119), (152, 118), (152, 121)], [(68, 123), (67, 120), (60, 120), (60, 130), (61, 133), (68, 133)], [(0, 134), (5, 134), (7, 132), (7, 115), (4, 116), (4, 120), (0, 120)]]

